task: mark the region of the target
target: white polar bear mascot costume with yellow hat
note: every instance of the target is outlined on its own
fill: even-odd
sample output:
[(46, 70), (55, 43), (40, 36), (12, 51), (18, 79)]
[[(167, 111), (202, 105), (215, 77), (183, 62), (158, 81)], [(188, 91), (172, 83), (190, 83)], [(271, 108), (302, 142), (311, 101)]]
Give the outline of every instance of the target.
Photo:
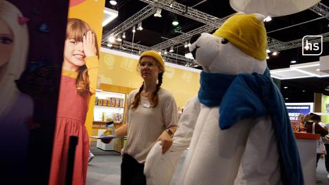
[[(263, 19), (260, 14), (236, 14), (213, 35), (191, 38), (190, 50), (204, 69), (201, 75), (263, 75), (268, 70)], [(273, 123), (270, 114), (249, 115), (221, 129), (222, 106), (200, 102), (202, 88), (208, 88), (203, 86), (202, 77), (200, 83), (199, 98), (186, 104), (169, 151), (162, 155), (160, 143), (156, 143), (149, 152), (144, 169), (148, 185), (304, 184), (291, 125), (284, 125), (282, 131), (290, 138), (289, 148), (282, 144), (282, 137), (286, 136), (273, 129), (277, 123)], [(187, 147), (179, 180), (171, 182), (178, 158)]]

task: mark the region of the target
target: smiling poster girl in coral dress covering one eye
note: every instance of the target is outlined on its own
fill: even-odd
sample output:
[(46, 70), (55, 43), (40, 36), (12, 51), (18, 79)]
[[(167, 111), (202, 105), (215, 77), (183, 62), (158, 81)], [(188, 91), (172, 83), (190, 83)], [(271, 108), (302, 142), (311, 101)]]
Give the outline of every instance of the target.
[(70, 136), (78, 138), (72, 184), (86, 184), (89, 139), (84, 122), (90, 96), (95, 93), (97, 86), (98, 56), (97, 38), (93, 29), (80, 19), (69, 18), (49, 175), (50, 185), (65, 184)]

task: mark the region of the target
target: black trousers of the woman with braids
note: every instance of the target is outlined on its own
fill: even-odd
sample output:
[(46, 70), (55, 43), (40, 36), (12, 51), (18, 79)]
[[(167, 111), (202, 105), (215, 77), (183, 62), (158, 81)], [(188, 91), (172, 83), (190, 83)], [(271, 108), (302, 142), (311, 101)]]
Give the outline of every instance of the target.
[(138, 163), (132, 156), (123, 154), (121, 163), (121, 185), (146, 185), (144, 164)]

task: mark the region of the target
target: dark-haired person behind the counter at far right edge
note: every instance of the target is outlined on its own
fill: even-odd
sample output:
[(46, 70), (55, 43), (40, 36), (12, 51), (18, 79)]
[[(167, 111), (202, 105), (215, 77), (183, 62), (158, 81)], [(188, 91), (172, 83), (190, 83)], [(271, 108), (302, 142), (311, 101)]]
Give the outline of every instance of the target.
[[(309, 116), (306, 117), (305, 119), (305, 127), (308, 133), (313, 133), (313, 124), (314, 124), (314, 133), (315, 134), (320, 134), (321, 137), (324, 137), (328, 134), (328, 130), (326, 127), (321, 127), (319, 125), (319, 122), (321, 121), (321, 117), (317, 114), (310, 113)], [(308, 119), (309, 118), (309, 119)], [(322, 140), (320, 137), (320, 140)], [(321, 142), (322, 143), (322, 142)], [(324, 153), (324, 146), (317, 146), (317, 162), (319, 162), (320, 156), (322, 153)]]

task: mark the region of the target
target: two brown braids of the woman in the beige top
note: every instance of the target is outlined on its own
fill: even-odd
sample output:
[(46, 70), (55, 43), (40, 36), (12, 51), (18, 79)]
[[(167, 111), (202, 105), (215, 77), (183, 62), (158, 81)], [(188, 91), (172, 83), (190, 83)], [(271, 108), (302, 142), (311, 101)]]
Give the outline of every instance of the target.
[[(164, 69), (161, 69), (162, 72), (158, 74), (158, 84), (156, 84), (156, 90), (154, 90), (154, 92), (152, 93), (151, 97), (149, 98), (149, 103), (151, 103), (151, 107), (155, 108), (156, 106), (158, 106), (159, 103), (159, 97), (158, 97), (158, 91), (160, 90), (161, 84), (162, 84), (162, 76), (163, 76), (163, 71)], [(142, 86), (139, 88), (138, 93), (136, 93), (135, 97), (134, 97), (134, 101), (132, 101), (132, 103), (130, 104), (130, 109), (134, 109), (138, 107), (138, 103), (141, 100), (141, 93), (143, 91), (144, 88), (144, 82), (142, 84)]]

